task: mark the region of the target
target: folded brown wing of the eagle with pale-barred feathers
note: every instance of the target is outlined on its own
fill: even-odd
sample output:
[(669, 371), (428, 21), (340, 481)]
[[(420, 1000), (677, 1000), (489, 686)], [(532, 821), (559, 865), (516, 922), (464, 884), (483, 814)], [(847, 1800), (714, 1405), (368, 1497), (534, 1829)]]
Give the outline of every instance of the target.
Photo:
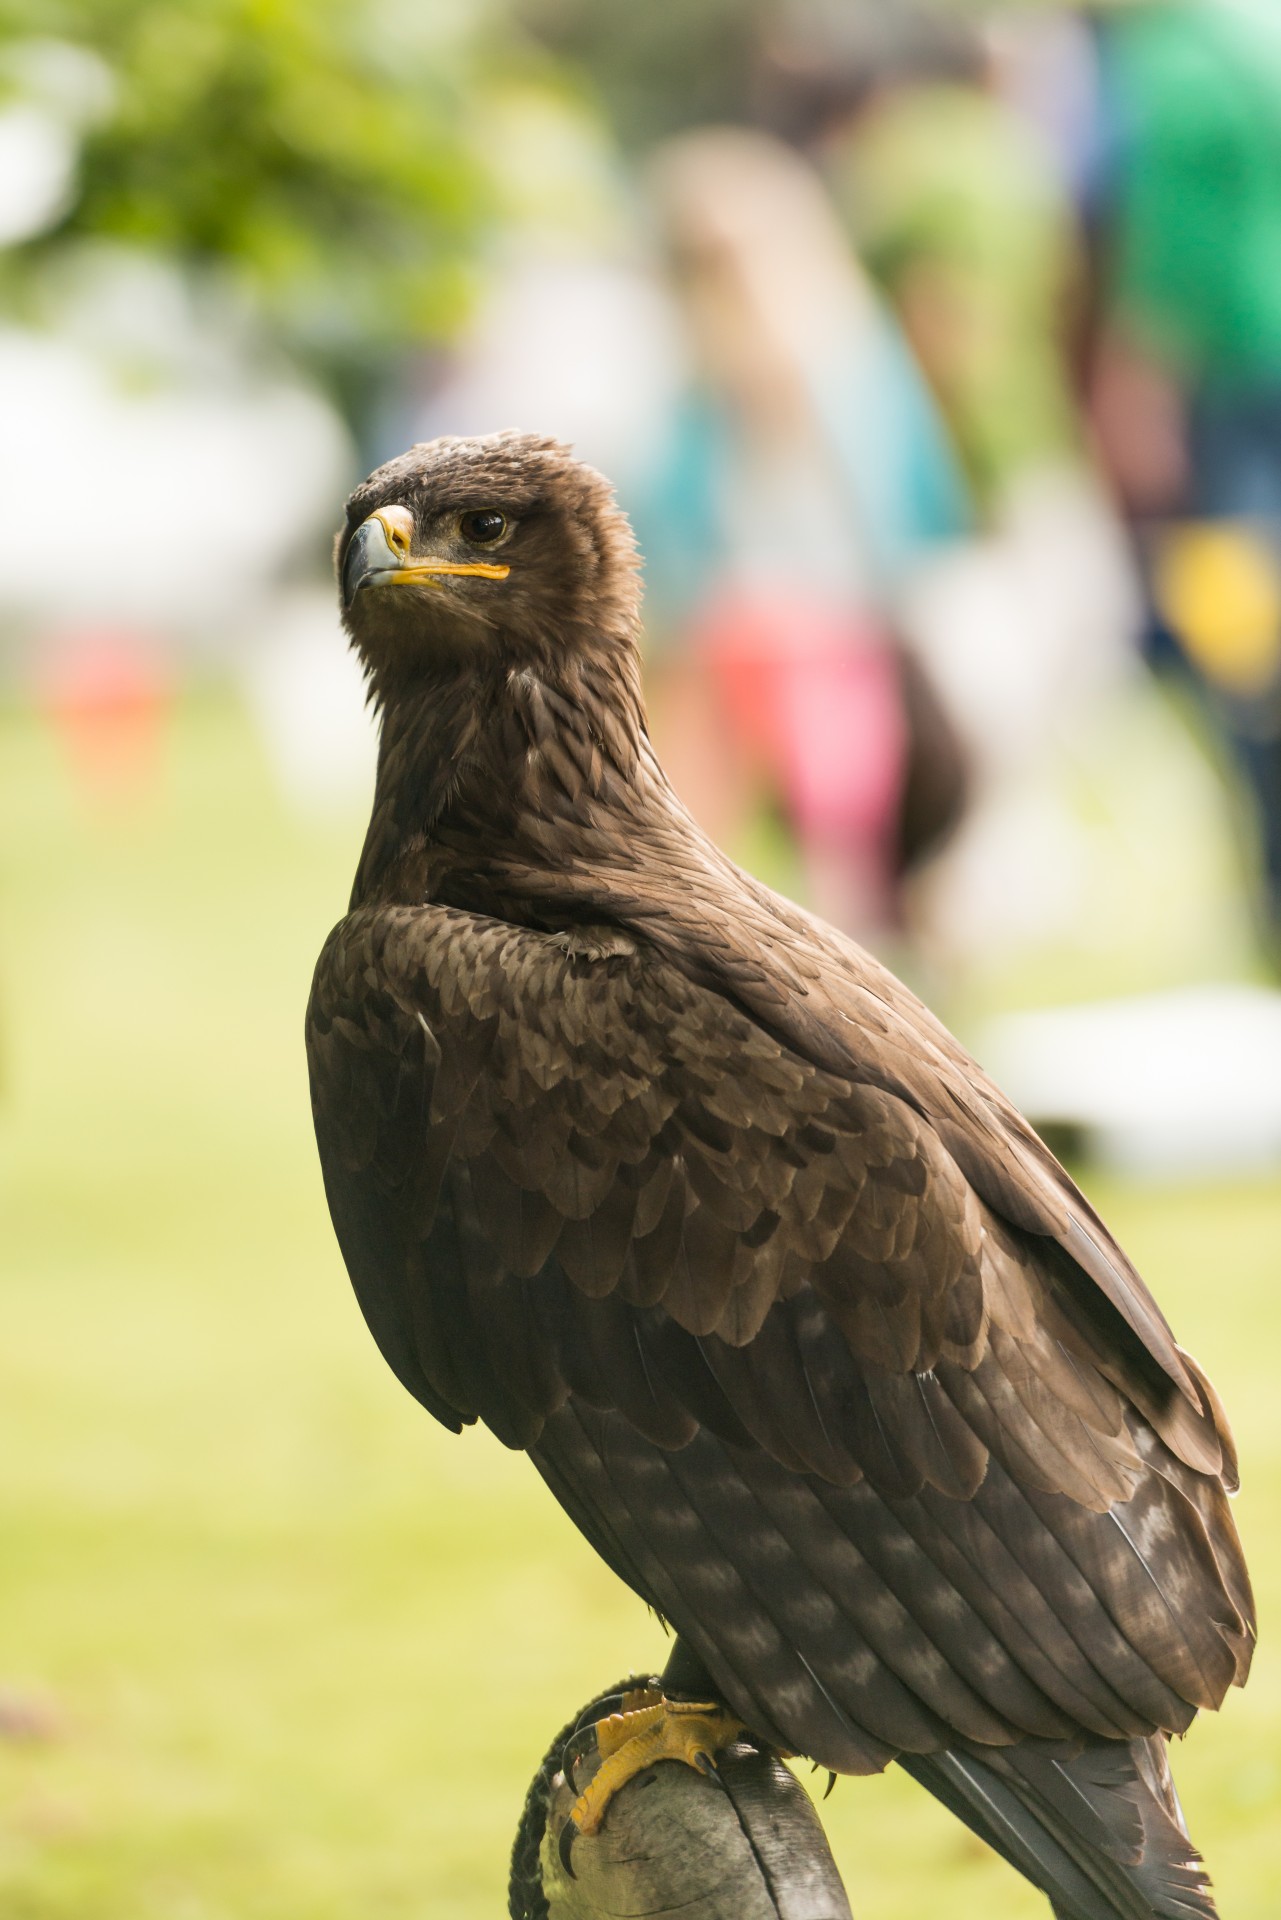
[(1218, 1404), (1035, 1135), (874, 1004), (835, 1071), (643, 937), (357, 910), (309, 1060), (365, 1315), (780, 1743), (1183, 1728), (1250, 1649)]

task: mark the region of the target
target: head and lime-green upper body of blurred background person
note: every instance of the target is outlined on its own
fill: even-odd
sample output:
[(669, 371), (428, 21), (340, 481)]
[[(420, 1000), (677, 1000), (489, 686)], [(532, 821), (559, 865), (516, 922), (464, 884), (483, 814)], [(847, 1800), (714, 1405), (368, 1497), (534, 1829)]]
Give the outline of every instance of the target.
[[(795, 132), (820, 157), (991, 522), (1026, 474), (1079, 465), (1064, 357), (1077, 252), (1064, 182), (997, 90), (981, 27), (860, 6), (835, 29), (835, 48), (824, 27), (795, 15)], [(807, 65), (816, 69), (809, 113)]]

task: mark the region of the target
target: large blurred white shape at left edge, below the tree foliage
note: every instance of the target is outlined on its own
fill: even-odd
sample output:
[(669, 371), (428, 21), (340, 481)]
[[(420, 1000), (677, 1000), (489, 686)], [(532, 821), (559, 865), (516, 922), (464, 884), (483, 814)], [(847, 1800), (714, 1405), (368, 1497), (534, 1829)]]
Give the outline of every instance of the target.
[(0, 609), (44, 624), (217, 634), (332, 522), (350, 472), (342, 422), (302, 386), (131, 390), (17, 328), (0, 419)]

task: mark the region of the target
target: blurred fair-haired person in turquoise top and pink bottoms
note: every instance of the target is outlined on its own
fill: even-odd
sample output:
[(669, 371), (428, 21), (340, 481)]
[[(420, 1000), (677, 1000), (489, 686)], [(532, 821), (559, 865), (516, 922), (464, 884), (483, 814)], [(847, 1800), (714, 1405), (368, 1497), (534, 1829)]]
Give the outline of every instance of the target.
[(655, 726), (678, 789), (805, 897), (893, 937), (903, 876), (956, 824), (964, 768), (895, 609), (968, 501), (930, 396), (818, 175), (759, 132), (647, 167), (688, 342), (647, 474)]

